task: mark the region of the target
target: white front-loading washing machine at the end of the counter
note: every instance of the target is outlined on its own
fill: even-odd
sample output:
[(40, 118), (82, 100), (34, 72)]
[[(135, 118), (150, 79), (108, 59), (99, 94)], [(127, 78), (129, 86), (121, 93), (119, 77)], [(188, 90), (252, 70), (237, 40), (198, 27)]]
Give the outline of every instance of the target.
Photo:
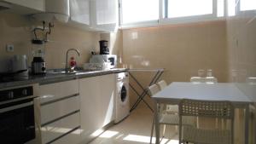
[(120, 72), (116, 74), (116, 105), (115, 105), (115, 120), (117, 124), (130, 114), (129, 101), (129, 74), (128, 72)]

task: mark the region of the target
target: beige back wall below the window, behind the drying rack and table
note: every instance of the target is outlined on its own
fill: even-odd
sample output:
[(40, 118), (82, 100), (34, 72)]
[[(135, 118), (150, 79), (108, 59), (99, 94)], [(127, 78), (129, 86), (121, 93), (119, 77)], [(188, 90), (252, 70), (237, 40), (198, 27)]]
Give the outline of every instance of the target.
[[(165, 68), (162, 78), (168, 83), (189, 81), (199, 69), (212, 69), (219, 82), (226, 82), (225, 21), (124, 30), (123, 62), (133, 68)], [(152, 72), (136, 75), (143, 86), (153, 77)]]

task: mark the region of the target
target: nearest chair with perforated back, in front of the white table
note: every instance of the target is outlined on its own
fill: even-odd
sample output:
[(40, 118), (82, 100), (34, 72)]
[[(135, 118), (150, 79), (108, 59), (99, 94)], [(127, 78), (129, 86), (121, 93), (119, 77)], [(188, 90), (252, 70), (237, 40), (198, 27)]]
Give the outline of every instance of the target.
[[(233, 144), (234, 107), (229, 101), (195, 101), (184, 99), (179, 104), (179, 143), (192, 142), (200, 144)], [(230, 122), (230, 130), (199, 129), (183, 126), (186, 117), (221, 118)]]

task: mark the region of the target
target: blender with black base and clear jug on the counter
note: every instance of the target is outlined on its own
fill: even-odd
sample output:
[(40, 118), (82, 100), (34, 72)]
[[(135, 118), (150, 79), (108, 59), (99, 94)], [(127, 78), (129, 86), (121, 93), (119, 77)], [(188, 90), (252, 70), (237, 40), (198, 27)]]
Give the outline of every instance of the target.
[(44, 61), (44, 41), (33, 39), (32, 40), (32, 74), (45, 74), (46, 73), (46, 63)]

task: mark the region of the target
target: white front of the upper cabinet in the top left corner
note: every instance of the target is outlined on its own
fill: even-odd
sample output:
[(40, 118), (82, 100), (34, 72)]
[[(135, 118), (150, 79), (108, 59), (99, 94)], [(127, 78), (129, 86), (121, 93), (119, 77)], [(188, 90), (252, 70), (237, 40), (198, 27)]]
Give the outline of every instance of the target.
[[(1, 0), (0, 0), (1, 1)], [(44, 0), (2, 0), (3, 2), (13, 3), (28, 9), (44, 11)], [(20, 9), (20, 8), (17, 8)]]

